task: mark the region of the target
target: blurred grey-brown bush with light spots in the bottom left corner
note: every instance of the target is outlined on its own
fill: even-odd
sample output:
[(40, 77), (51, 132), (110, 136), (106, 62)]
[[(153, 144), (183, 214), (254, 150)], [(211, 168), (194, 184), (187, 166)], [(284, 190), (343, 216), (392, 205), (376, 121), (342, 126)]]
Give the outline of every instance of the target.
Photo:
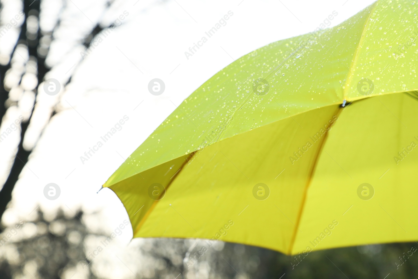
[[(41, 211), (37, 213), (36, 220), (25, 222), (16, 234), (0, 243), (0, 278), (63, 278), (64, 272), (74, 270), (75, 274), (81, 263), (88, 264), (84, 239), (91, 232), (81, 221), (82, 212), (66, 218), (59, 211), (50, 221)], [(5, 228), (0, 237), (4, 239), (11, 229)], [(87, 278), (97, 278), (88, 266), (84, 273)]]

